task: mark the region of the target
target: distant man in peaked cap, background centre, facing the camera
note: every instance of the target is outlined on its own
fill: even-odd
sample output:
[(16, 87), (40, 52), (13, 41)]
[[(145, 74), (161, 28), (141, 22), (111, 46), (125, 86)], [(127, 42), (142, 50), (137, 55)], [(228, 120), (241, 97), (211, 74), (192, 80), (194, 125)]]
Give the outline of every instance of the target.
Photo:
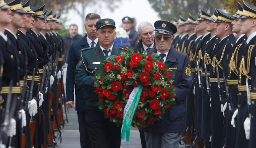
[(133, 19), (126, 16), (122, 19), (122, 22), (123, 22), (123, 25), (122, 25), (123, 29), (126, 30), (127, 34), (129, 35), (130, 48), (135, 49), (139, 42), (139, 37), (137, 35), (137, 32), (131, 29), (133, 27)]

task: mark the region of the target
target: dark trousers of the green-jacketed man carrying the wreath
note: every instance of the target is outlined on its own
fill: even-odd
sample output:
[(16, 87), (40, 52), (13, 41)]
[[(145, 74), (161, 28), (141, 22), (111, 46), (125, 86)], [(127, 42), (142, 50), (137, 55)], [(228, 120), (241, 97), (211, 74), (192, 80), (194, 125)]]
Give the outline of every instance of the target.
[(104, 118), (103, 111), (97, 107), (86, 106), (86, 126), (90, 132), (92, 148), (120, 148), (121, 127)]

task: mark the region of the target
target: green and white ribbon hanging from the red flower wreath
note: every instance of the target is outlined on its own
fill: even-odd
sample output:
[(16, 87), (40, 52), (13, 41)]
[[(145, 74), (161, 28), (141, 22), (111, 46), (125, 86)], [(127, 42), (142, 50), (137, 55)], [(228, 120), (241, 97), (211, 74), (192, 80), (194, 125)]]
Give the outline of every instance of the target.
[(132, 93), (130, 93), (129, 99), (123, 111), (123, 125), (121, 130), (121, 141), (127, 142), (130, 139), (130, 127), (133, 120), (133, 115), (140, 101), (140, 95), (142, 92), (143, 85), (133, 88)]

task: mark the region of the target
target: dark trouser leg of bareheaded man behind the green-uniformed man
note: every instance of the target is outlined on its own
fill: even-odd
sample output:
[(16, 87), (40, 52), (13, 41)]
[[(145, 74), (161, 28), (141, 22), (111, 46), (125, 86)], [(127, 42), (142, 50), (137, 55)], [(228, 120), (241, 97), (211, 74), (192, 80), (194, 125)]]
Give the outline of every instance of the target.
[(84, 111), (77, 111), (79, 134), (80, 134), (80, 146), (81, 148), (91, 148), (92, 143), (89, 136), (88, 128), (86, 127), (86, 116)]

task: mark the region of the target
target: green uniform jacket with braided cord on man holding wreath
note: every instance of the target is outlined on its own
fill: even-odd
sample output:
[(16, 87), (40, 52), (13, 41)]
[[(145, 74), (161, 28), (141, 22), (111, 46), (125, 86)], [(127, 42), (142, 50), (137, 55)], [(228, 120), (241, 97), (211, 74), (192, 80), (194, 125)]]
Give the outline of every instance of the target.
[[(120, 55), (122, 48), (113, 45), (111, 55)], [(75, 79), (76, 84), (84, 88), (84, 99), (86, 105), (97, 107), (99, 102), (98, 95), (93, 91), (93, 84), (96, 80), (97, 72), (102, 68), (102, 61), (106, 60), (100, 45), (81, 50), (81, 57), (76, 65)]]

